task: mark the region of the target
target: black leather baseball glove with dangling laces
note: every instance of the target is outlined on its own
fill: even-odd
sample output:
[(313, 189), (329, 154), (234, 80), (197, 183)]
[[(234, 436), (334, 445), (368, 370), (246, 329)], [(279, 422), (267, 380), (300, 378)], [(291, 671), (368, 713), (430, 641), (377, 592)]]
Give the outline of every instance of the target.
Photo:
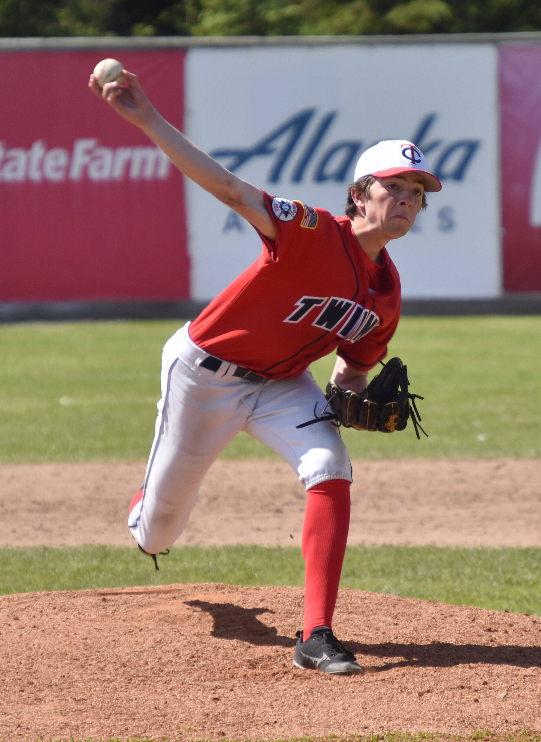
[(423, 433), (424, 430), (419, 425), (421, 416), (415, 401), (423, 397), (408, 392), (410, 382), (407, 380), (407, 367), (400, 358), (391, 358), (382, 365), (383, 369), (361, 394), (342, 389), (329, 381), (325, 397), (332, 416), (338, 425), (355, 430), (378, 430), (380, 433), (404, 430), (407, 419), (411, 418), (416, 436), (421, 439), (419, 429)]

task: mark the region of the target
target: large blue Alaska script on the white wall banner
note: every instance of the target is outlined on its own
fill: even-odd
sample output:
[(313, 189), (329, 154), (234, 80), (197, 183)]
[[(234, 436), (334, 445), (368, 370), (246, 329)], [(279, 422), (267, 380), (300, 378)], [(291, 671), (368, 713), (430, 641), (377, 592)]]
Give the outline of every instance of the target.
[[(349, 182), (361, 152), (378, 140), (347, 139), (329, 143), (329, 132), (336, 116), (338, 111), (330, 111), (318, 118), (317, 108), (306, 108), (278, 124), (268, 134), (263, 134), (249, 147), (219, 148), (210, 154), (225, 159), (226, 168), (232, 172), (240, 170), (254, 158), (266, 158), (270, 160), (268, 183), (280, 182), (286, 170), (292, 183), (301, 183), (309, 177), (315, 183)], [(439, 180), (464, 180), (481, 140), (448, 142), (433, 139), (430, 132), (437, 118), (438, 114), (424, 116), (410, 137), (415, 147), (404, 157), (411, 157), (412, 162), (417, 163), (421, 150), (431, 161), (433, 174)]]

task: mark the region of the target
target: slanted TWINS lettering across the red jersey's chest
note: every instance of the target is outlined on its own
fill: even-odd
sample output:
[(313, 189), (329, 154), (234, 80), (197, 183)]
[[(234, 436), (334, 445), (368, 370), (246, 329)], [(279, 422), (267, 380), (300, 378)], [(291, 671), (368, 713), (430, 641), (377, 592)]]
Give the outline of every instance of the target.
[(284, 322), (297, 324), (308, 315), (313, 318), (317, 310), (312, 326), (321, 327), (328, 332), (335, 330), (338, 338), (349, 340), (350, 343), (355, 343), (379, 324), (376, 312), (338, 296), (303, 296), (295, 302), (295, 307), (295, 311)]

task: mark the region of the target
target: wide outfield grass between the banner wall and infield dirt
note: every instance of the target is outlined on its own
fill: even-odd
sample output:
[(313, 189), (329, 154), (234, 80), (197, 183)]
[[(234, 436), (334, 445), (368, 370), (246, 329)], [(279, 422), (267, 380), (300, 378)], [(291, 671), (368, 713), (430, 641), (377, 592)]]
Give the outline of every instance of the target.
[[(0, 462), (145, 459), (160, 354), (177, 322), (0, 326)], [(403, 318), (407, 364), (430, 438), (344, 430), (351, 456), (541, 455), (541, 317)], [(322, 387), (334, 358), (312, 367)], [(240, 433), (223, 456), (274, 456)]]

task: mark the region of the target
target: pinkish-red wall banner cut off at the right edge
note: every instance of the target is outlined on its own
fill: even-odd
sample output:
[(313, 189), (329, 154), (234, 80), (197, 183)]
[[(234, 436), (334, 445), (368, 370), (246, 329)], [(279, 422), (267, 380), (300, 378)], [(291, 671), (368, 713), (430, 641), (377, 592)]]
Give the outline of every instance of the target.
[(504, 288), (541, 291), (540, 46), (499, 50)]

